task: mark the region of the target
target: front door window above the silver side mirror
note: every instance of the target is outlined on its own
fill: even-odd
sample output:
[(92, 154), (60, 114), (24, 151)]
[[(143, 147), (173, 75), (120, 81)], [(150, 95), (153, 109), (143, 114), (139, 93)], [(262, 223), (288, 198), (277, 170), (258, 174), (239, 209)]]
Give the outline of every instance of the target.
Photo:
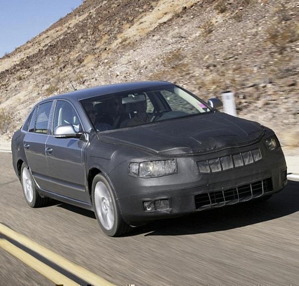
[(82, 130), (74, 108), (68, 102), (58, 100), (55, 108), (53, 130), (65, 124), (72, 124), (76, 132)]

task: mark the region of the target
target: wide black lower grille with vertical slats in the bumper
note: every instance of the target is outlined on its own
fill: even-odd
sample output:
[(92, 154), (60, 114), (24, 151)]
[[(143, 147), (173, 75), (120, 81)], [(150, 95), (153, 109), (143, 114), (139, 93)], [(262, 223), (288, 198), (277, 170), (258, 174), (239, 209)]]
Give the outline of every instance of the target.
[(206, 206), (212, 207), (225, 204), (235, 204), (260, 197), (263, 194), (272, 191), (272, 179), (269, 177), (261, 181), (227, 189), (225, 191), (195, 195), (195, 207), (196, 209), (199, 209)]

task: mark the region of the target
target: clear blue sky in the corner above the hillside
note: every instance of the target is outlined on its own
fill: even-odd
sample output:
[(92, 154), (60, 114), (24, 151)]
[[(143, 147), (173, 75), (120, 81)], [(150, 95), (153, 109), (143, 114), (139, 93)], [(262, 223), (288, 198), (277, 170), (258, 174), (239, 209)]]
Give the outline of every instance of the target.
[(0, 57), (29, 41), (82, 0), (0, 0)]

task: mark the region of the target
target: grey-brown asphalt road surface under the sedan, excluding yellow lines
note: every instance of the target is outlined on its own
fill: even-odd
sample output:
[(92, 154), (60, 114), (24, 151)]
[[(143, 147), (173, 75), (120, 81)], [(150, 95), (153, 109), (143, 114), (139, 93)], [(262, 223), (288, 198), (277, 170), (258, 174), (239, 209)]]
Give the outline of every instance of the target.
[[(162, 220), (108, 238), (92, 212), (25, 203), (11, 155), (0, 153), (0, 222), (116, 285), (296, 285), (299, 182), (265, 203)], [(0, 285), (53, 283), (0, 248)]]

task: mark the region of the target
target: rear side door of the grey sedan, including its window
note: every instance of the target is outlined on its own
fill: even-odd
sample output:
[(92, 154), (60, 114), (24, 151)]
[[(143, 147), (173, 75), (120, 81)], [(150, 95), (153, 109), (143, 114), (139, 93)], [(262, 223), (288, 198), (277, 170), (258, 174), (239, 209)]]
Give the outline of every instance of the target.
[(45, 154), (49, 136), (49, 118), (53, 101), (36, 107), (28, 125), (23, 144), (32, 175), (42, 189), (47, 187), (48, 164)]

